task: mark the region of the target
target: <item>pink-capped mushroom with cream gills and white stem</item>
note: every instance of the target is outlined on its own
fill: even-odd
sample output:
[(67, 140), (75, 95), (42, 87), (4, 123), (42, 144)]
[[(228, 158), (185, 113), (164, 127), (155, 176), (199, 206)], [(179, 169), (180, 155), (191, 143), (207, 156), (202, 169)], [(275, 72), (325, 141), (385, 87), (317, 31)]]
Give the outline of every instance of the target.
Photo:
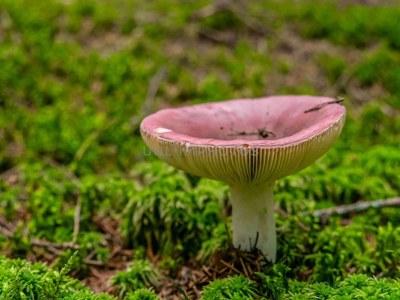
[(140, 132), (166, 163), (230, 187), (233, 244), (276, 260), (273, 189), (277, 179), (321, 157), (336, 141), (340, 100), (271, 96), (162, 109)]

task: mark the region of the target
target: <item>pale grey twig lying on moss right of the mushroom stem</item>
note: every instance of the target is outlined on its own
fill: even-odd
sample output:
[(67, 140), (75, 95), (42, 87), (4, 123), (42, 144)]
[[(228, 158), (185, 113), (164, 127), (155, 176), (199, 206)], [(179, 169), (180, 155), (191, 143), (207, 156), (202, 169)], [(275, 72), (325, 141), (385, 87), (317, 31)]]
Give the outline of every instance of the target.
[(358, 201), (349, 205), (339, 205), (336, 207), (330, 207), (327, 209), (320, 209), (318, 211), (308, 212), (304, 211), (300, 213), (300, 216), (312, 215), (313, 217), (329, 217), (330, 215), (346, 215), (348, 213), (357, 213), (360, 211), (366, 211), (372, 207), (390, 207), (400, 205), (400, 197), (394, 197), (389, 199), (379, 199), (375, 201)]

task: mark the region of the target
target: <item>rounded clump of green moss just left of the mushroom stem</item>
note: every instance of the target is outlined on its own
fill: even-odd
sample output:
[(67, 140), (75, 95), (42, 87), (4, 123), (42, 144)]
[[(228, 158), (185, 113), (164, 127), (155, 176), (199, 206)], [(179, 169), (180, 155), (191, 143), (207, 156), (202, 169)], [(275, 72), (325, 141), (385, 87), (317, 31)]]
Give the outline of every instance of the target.
[[(151, 176), (156, 170), (146, 175)], [(156, 181), (128, 203), (122, 233), (134, 247), (150, 242), (154, 251), (187, 257), (198, 251), (201, 241), (208, 239), (212, 228), (222, 220), (220, 205), (227, 195), (215, 193), (216, 189), (205, 185), (192, 188), (180, 172), (160, 171), (156, 173)]]

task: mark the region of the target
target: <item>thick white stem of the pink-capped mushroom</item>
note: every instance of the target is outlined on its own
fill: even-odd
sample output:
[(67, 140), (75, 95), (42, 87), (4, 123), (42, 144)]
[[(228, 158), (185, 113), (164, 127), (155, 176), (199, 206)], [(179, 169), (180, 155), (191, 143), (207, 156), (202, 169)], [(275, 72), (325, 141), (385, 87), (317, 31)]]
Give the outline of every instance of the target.
[(251, 250), (258, 232), (256, 247), (272, 262), (276, 261), (274, 184), (230, 185), (233, 245)]

